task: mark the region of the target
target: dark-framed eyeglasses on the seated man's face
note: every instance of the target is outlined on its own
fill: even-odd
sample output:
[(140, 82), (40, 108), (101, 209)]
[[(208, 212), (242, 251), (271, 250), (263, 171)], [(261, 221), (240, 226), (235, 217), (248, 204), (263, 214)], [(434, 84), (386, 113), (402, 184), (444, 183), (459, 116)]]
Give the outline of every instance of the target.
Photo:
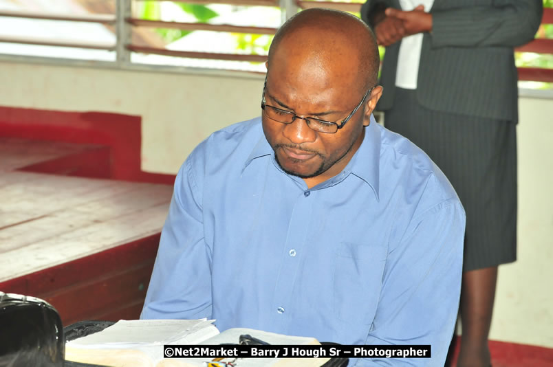
[(263, 113), (267, 118), (270, 118), (271, 120), (274, 120), (276, 122), (281, 122), (282, 124), (292, 124), (296, 118), (300, 118), (301, 120), (305, 120), (305, 123), (307, 123), (307, 126), (310, 127), (310, 129), (314, 131), (318, 131), (320, 133), (329, 133), (334, 134), (339, 129), (342, 129), (345, 124), (351, 119), (351, 116), (355, 115), (359, 107), (365, 102), (365, 99), (367, 99), (367, 96), (371, 93), (371, 91), (374, 89), (372, 87), (365, 93), (365, 96), (363, 96), (361, 102), (357, 105), (357, 107), (354, 109), (354, 111), (351, 111), (351, 113), (340, 122), (338, 125), (336, 122), (330, 122), (326, 120), (321, 120), (318, 118), (301, 118), (299, 115), (296, 115), (292, 111), (286, 111), (283, 109), (279, 109), (274, 106), (270, 106), (269, 104), (265, 103), (265, 87), (267, 87), (267, 78), (265, 78), (265, 84), (263, 85), (263, 96), (261, 98), (261, 109), (263, 109)]

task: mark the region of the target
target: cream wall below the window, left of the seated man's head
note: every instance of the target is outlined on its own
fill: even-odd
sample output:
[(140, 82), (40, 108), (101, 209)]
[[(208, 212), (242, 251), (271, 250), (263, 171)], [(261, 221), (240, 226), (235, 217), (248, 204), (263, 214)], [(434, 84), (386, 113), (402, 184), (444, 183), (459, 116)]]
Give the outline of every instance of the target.
[(176, 173), (209, 133), (261, 113), (263, 76), (0, 61), (0, 105), (142, 116), (142, 170)]

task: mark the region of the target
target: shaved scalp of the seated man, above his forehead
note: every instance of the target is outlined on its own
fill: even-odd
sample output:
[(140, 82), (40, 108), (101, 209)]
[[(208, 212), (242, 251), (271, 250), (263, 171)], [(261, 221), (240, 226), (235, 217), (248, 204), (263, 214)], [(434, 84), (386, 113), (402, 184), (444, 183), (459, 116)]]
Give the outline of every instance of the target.
[(376, 38), (363, 21), (346, 12), (321, 8), (299, 12), (276, 32), (268, 71), (272, 63), (284, 61), (296, 67), (316, 65), (326, 73), (354, 74), (360, 89), (376, 85), (380, 65)]

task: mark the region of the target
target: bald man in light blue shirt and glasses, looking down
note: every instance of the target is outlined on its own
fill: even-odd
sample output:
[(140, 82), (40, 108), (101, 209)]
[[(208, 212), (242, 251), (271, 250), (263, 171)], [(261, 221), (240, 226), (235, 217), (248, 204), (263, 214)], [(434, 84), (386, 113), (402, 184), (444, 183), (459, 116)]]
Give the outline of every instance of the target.
[(142, 318), (431, 344), (430, 360), (387, 363), (443, 366), (464, 210), (419, 148), (376, 124), (377, 72), (354, 16), (304, 10), (280, 28), (261, 118), (210, 135), (177, 175)]

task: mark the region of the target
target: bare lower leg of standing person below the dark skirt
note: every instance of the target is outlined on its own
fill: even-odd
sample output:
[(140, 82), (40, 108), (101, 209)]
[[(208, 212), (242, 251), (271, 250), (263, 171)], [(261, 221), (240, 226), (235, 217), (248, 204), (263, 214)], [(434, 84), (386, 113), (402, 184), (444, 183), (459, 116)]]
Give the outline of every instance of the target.
[(489, 367), (488, 334), (492, 322), (497, 267), (463, 273), (461, 350), (457, 367)]

